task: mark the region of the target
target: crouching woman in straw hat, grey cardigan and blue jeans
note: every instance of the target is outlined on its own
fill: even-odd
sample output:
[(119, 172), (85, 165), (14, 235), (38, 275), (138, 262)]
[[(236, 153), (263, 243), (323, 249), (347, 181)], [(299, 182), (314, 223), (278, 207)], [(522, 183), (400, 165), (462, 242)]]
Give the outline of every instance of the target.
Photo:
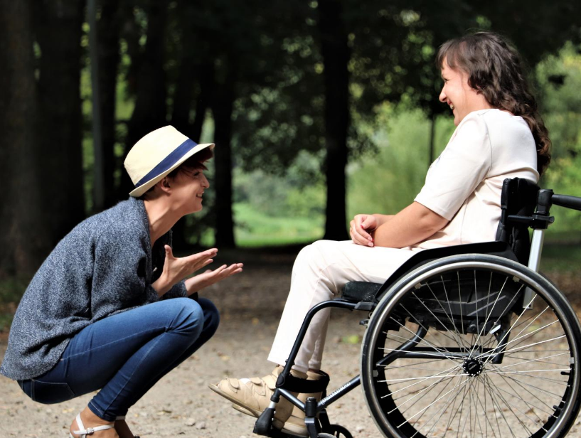
[(41, 403), (100, 390), (73, 419), (71, 438), (133, 438), (129, 408), (218, 328), (218, 310), (197, 291), (242, 265), (183, 280), (218, 250), (171, 250), (171, 227), (202, 209), (213, 146), (170, 126), (139, 140), (124, 163), (135, 184), (129, 200), (66, 235), (18, 305), (1, 373)]

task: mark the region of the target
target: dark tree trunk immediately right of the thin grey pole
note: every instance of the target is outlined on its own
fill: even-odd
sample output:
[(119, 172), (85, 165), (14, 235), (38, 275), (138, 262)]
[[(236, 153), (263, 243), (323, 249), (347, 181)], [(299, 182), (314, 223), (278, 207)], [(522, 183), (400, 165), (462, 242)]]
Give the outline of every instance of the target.
[(101, 97), (101, 132), (103, 149), (104, 207), (117, 201), (114, 187), (114, 156), (116, 139), (115, 102), (117, 97), (117, 72), (119, 65), (119, 1), (100, 0), (101, 18), (97, 23), (99, 54), (99, 90)]

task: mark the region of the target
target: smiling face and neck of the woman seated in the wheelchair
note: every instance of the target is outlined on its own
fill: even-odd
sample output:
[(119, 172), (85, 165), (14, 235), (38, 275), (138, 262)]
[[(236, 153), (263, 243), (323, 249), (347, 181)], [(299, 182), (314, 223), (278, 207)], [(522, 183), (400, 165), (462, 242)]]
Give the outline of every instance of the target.
[(439, 101), (447, 103), (454, 114), (454, 125), (458, 126), (467, 114), (491, 108), (484, 95), (468, 85), (468, 75), (462, 70), (449, 68), (442, 63), (442, 80), (444, 86), (439, 93)]

